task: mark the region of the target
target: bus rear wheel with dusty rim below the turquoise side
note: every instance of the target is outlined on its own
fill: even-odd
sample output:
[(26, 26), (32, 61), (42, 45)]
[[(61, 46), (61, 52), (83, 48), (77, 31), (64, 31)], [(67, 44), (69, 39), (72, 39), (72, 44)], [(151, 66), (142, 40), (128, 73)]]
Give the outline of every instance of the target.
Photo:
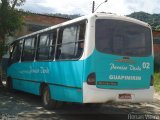
[(44, 86), (42, 89), (42, 103), (43, 107), (47, 110), (55, 109), (57, 107), (57, 101), (51, 99), (48, 86)]

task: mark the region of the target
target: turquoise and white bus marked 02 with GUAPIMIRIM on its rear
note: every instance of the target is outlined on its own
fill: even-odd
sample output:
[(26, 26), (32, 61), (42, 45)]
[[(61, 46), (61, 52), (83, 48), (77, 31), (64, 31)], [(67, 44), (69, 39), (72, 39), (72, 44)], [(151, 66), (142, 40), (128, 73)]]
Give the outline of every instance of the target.
[(153, 39), (142, 21), (93, 13), (25, 35), (9, 47), (7, 87), (60, 102), (153, 100)]

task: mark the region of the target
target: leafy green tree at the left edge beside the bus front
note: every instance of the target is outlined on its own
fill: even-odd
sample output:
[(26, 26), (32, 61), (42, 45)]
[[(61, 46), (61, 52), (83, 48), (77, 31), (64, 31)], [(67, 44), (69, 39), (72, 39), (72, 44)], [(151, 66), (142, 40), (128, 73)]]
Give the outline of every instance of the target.
[[(0, 3), (0, 59), (3, 55), (5, 37), (15, 35), (23, 25), (23, 16), (15, 6), (20, 6), (25, 0), (1, 0)], [(1, 85), (1, 81), (0, 81)]]

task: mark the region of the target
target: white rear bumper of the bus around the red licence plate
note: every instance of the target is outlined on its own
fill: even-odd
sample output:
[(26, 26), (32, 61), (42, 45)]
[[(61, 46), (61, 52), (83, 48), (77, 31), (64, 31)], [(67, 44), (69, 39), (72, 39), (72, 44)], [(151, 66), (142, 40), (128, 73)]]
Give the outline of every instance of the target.
[[(131, 95), (131, 98), (120, 98), (120, 95)], [(106, 103), (106, 102), (152, 102), (154, 87), (149, 89), (115, 90), (100, 89), (95, 85), (83, 83), (83, 103)]]

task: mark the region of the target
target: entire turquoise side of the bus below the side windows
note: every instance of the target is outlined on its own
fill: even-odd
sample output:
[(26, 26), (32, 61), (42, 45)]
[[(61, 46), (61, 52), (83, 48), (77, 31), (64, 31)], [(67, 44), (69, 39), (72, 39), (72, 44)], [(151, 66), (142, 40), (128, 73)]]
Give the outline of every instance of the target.
[(49, 85), (55, 100), (82, 102), (83, 61), (21, 62), (8, 69), (14, 89), (40, 94), (40, 84)]

